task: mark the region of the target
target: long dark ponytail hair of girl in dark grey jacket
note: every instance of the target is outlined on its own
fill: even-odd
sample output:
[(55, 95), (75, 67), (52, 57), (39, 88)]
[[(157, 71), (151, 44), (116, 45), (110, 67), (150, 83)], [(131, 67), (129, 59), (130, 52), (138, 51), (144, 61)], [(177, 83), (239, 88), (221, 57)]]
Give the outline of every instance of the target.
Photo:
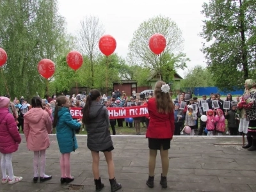
[(90, 107), (92, 105), (93, 100), (96, 100), (98, 97), (100, 97), (99, 90), (96, 90), (96, 89), (90, 90), (89, 95), (86, 97), (86, 103), (83, 108), (83, 122), (90, 122), (90, 118), (89, 118)]

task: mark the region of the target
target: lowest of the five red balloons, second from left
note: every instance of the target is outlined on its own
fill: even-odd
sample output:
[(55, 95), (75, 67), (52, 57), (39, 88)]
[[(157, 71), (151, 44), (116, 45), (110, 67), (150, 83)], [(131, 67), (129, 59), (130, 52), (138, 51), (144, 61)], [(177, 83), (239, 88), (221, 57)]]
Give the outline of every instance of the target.
[(54, 74), (55, 65), (52, 60), (44, 59), (38, 63), (37, 70), (41, 76), (45, 77), (45, 79), (48, 79)]

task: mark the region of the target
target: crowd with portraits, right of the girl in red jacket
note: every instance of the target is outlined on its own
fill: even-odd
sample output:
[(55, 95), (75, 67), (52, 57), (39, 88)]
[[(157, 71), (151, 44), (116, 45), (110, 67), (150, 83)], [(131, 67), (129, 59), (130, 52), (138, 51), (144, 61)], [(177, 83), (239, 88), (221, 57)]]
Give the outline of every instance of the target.
[[(186, 125), (191, 128), (191, 136), (195, 135), (197, 131), (198, 135), (207, 134), (209, 136), (220, 136), (225, 132), (230, 135), (237, 135), (239, 133), (239, 116), (236, 112), (237, 103), (240, 102), (239, 98), (241, 95), (238, 95), (236, 100), (233, 100), (232, 95), (228, 93), (226, 99), (221, 100), (219, 93), (211, 93), (209, 99), (207, 99), (207, 95), (202, 95), (201, 100), (199, 100), (198, 97), (193, 97), (187, 101), (184, 100), (185, 95), (185, 92), (180, 93), (174, 101), (175, 135), (180, 135), (183, 127)], [(217, 107), (212, 104), (214, 100), (218, 102)], [(223, 108), (224, 101), (230, 102), (229, 109)], [(186, 102), (186, 105), (184, 109), (182, 108), (182, 110), (180, 110), (182, 102)], [(204, 111), (203, 103), (207, 103), (207, 111)], [(200, 120), (200, 116), (202, 115), (207, 116), (206, 122)], [(226, 119), (228, 126), (225, 124)]]

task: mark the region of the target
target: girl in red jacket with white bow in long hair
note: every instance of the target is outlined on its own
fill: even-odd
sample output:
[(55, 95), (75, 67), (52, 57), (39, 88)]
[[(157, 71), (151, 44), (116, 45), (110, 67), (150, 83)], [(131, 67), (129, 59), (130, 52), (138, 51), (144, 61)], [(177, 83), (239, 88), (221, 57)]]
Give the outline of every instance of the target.
[(150, 122), (147, 129), (149, 162), (147, 186), (154, 188), (154, 171), (157, 150), (160, 150), (162, 160), (162, 174), (160, 184), (167, 188), (166, 175), (169, 168), (168, 149), (170, 148), (174, 132), (173, 102), (169, 94), (170, 86), (158, 81), (154, 90), (154, 97), (148, 100), (148, 114)]

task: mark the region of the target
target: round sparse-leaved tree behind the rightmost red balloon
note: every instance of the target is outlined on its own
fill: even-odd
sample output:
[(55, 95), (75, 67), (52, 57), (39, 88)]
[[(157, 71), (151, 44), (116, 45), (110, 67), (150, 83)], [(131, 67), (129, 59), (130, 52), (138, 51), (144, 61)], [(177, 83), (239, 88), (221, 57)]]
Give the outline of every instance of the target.
[[(161, 33), (166, 38), (166, 48), (157, 56), (148, 47), (150, 36)], [(182, 31), (172, 19), (164, 16), (157, 16), (145, 20), (134, 32), (129, 44), (128, 60), (132, 65), (154, 70), (163, 81), (172, 80), (175, 68), (185, 68), (186, 55), (182, 52), (184, 40)], [(171, 79), (169, 79), (171, 78)]]

